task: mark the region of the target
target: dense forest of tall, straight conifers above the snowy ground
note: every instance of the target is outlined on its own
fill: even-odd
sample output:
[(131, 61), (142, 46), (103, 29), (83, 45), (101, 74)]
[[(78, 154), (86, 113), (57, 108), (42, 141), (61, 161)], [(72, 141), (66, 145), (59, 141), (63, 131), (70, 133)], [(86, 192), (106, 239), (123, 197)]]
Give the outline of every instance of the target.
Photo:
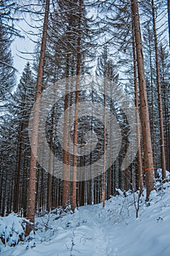
[[(34, 43), (15, 53), (20, 78), (18, 38)], [(36, 218), (128, 195), (138, 218), (169, 187), (169, 48), (169, 0), (0, 1), (2, 246), (5, 218), (31, 239)]]

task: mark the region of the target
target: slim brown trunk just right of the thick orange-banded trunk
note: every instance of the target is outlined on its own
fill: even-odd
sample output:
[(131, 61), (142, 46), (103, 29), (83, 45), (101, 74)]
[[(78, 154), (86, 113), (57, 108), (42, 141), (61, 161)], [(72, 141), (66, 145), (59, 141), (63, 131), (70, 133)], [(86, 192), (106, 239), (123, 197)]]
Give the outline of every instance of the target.
[(161, 136), (161, 167), (162, 167), (162, 178), (163, 178), (163, 180), (165, 180), (165, 178), (166, 178), (166, 158), (165, 158), (165, 142), (164, 142), (164, 132), (163, 132), (163, 108), (162, 108), (158, 39), (157, 39), (157, 33), (156, 33), (154, 0), (152, 0), (152, 23), (153, 23), (153, 31), (154, 31), (154, 39), (155, 39), (156, 82), (157, 82), (157, 86), (158, 86), (159, 126), (160, 126), (160, 136)]

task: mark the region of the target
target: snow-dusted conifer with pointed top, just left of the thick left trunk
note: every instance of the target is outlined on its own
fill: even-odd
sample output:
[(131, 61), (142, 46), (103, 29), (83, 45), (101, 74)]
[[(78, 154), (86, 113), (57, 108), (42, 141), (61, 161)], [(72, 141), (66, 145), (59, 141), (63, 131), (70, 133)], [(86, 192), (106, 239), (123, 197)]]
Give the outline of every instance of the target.
[[(13, 211), (18, 213), (19, 200), (20, 200), (20, 179), (27, 176), (24, 173), (24, 158), (28, 158), (30, 154), (30, 147), (28, 143), (28, 121), (31, 113), (31, 108), (34, 105), (34, 94), (35, 94), (35, 81), (31, 73), (30, 64), (27, 63), (23, 69), (23, 74), (20, 78), (18, 88), (13, 94), (12, 102), (10, 106), (10, 112), (18, 122), (17, 130), (17, 160), (15, 166), (15, 185), (13, 195)], [(23, 152), (25, 154), (23, 154)], [(24, 157), (23, 157), (24, 156)], [(22, 206), (23, 207), (23, 206)], [(26, 211), (26, 209), (24, 209)]]

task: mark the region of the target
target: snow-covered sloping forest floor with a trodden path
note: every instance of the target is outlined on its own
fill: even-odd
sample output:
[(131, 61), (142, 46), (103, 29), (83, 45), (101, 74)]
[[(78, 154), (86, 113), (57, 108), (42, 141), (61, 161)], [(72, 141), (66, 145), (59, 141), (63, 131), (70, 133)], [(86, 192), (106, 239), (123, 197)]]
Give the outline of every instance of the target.
[[(145, 194), (145, 193), (144, 193)], [(36, 218), (36, 235), (15, 247), (4, 246), (2, 256), (169, 256), (170, 183), (152, 192), (148, 205), (142, 195), (136, 219), (134, 197), (119, 195), (95, 206), (83, 206), (58, 218), (52, 213)], [(8, 219), (7, 219), (8, 218)], [(0, 219), (0, 229), (21, 232), (12, 214)], [(17, 222), (17, 223), (16, 223)], [(46, 229), (46, 230), (45, 230)], [(7, 230), (6, 230), (7, 233)], [(14, 235), (13, 235), (14, 236)], [(15, 236), (14, 236), (15, 238)]]

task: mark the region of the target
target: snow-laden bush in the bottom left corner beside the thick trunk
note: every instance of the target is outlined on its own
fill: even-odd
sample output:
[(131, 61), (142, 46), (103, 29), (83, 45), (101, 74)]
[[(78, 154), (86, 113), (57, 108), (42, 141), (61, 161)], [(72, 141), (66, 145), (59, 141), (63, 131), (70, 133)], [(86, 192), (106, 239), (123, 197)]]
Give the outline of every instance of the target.
[[(0, 244), (15, 246), (24, 238), (23, 219), (16, 214), (0, 217)], [(1, 249), (0, 249), (1, 251)]]

